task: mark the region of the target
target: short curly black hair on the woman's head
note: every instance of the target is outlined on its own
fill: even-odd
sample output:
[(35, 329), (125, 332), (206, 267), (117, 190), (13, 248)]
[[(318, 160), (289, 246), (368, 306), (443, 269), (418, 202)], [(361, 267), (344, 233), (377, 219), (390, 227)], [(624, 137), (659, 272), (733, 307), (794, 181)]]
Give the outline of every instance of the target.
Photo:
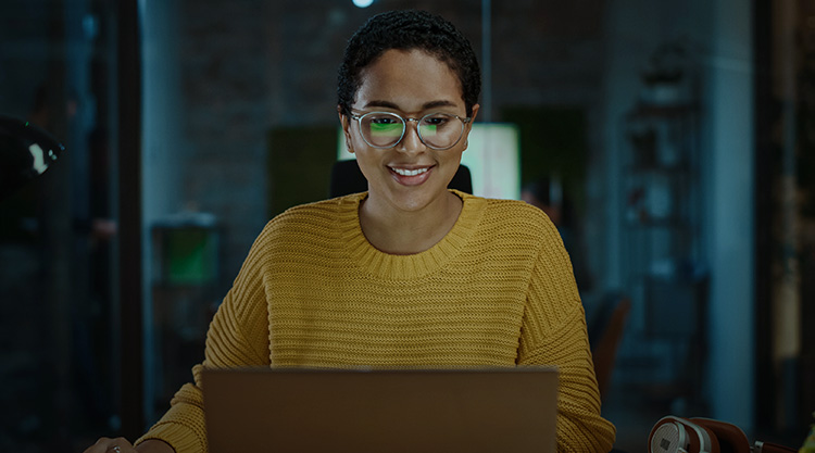
[(414, 10), (377, 14), (348, 41), (337, 77), (337, 103), (343, 115), (351, 115), (362, 71), (391, 49), (418, 49), (447, 63), (459, 77), (467, 116), (472, 116), (481, 91), (481, 72), (469, 41), (444, 18)]

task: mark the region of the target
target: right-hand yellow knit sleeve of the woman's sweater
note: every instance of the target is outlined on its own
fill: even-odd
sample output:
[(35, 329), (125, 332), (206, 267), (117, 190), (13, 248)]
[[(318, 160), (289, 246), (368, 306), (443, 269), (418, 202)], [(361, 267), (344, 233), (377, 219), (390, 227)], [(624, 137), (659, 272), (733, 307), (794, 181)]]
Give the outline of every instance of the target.
[(547, 236), (527, 293), (518, 365), (559, 368), (557, 451), (605, 453), (616, 430), (600, 416), (586, 316), (563, 242), (554, 227)]

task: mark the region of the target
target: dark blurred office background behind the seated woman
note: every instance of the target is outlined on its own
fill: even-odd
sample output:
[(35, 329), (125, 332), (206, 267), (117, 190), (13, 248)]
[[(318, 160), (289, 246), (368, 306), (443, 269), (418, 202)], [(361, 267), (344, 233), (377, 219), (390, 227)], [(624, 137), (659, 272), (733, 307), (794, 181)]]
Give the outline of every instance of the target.
[(812, 2), (3, 0), (0, 114), (67, 151), (0, 200), (0, 451), (82, 451), (166, 410), (255, 235), (327, 196), (346, 39), (403, 8), (471, 38), (479, 121), (516, 125), (521, 181), (569, 213), (589, 327), (630, 302), (617, 446), (667, 414), (803, 441)]

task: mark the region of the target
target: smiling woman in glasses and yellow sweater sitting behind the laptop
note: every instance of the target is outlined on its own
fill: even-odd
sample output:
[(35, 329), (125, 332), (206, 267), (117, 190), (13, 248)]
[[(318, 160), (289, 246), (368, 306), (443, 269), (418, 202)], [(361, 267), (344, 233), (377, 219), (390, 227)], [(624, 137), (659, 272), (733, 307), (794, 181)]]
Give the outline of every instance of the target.
[[(561, 372), (560, 451), (609, 451), (568, 255), (538, 209), (448, 190), (480, 75), (448, 22), (371, 18), (339, 71), (339, 119), (368, 191), (269, 222), (215, 315), (205, 360), (138, 451), (206, 450), (203, 367), (516, 366)], [(172, 445), (172, 449), (170, 448)], [(131, 451), (101, 439), (87, 453)]]

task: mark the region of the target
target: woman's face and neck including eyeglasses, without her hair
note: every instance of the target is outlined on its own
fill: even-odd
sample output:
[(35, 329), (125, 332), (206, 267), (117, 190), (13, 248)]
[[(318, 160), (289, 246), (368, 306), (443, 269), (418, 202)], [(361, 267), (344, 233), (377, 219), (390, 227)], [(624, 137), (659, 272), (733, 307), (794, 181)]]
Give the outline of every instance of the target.
[[(368, 180), (360, 210), (363, 232), (385, 252), (423, 252), (461, 213), (462, 200), (447, 190), (471, 129), (471, 117), (460, 119), (467, 111), (461, 84), (447, 63), (417, 49), (387, 50), (361, 74), (351, 108), (361, 115), (350, 117), (359, 121), (340, 113), (340, 122)], [(478, 104), (468, 110), (474, 117)], [(387, 133), (392, 126), (399, 128)]]

